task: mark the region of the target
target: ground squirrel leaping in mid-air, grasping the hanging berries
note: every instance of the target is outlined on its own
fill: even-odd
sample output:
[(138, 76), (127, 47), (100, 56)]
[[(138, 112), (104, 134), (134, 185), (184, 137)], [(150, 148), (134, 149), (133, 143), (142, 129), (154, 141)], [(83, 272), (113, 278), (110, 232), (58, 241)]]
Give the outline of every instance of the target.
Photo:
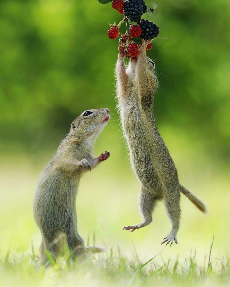
[(206, 212), (202, 201), (183, 187), (168, 148), (160, 136), (153, 115), (153, 97), (158, 86), (155, 65), (146, 56), (151, 40), (142, 40), (138, 57), (131, 57), (128, 68), (124, 64), (125, 44), (119, 41), (116, 64), (117, 98), (124, 134), (127, 139), (131, 163), (141, 183), (140, 208), (143, 222), (126, 226), (123, 230), (142, 228), (152, 221), (152, 212), (159, 200), (164, 200), (172, 222), (170, 233), (163, 239), (170, 246), (177, 242), (180, 223), (180, 192), (197, 208)]

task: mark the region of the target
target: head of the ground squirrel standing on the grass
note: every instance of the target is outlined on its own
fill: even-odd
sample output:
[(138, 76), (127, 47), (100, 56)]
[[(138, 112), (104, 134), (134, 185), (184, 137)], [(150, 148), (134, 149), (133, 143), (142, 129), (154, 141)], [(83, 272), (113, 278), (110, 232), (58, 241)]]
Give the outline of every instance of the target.
[(89, 109), (72, 122), (70, 134), (77, 138), (97, 137), (109, 121), (109, 109)]

